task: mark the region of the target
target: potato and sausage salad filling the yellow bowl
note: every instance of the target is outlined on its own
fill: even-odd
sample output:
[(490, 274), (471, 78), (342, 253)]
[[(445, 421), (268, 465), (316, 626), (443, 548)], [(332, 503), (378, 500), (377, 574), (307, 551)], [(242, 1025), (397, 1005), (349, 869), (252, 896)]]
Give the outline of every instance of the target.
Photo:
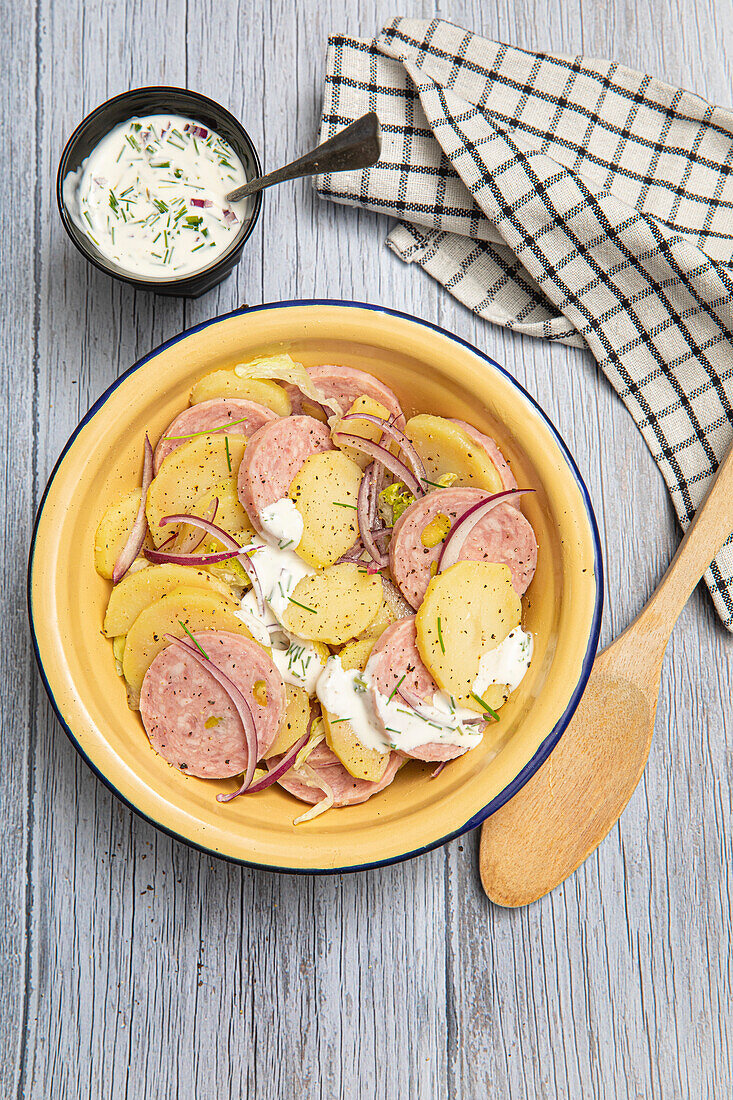
[(300, 824), (486, 744), (537, 564), (493, 439), (281, 354), (201, 377), (141, 449), (95, 562), (151, 751), (221, 803), (278, 784)]

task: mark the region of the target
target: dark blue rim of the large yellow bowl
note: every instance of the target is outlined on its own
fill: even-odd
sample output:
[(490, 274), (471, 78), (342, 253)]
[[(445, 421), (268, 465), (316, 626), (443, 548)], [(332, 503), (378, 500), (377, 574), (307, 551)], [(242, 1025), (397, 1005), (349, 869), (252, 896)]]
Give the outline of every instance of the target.
[[(586, 657), (583, 659), (580, 678), (562, 715), (555, 724), (555, 726), (547, 735), (547, 737), (544, 739), (544, 741), (541, 741), (533, 758), (524, 766), (518, 776), (516, 776), (512, 780), (512, 782), (508, 783), (504, 788), (504, 790), (501, 791), (494, 799), (492, 799), (491, 802), (489, 802), (482, 810), (480, 810), (477, 814), (470, 817), (464, 825), (461, 825), (460, 828), (453, 829), (452, 833), (446, 834), (446, 836), (440, 837), (440, 839), (434, 840), (431, 844), (427, 844), (422, 848), (414, 848), (412, 851), (405, 851), (398, 856), (392, 856), (389, 859), (378, 859), (371, 864), (355, 864), (351, 867), (337, 867), (337, 868), (273, 867), (272, 865), (269, 864), (258, 864), (256, 861), (251, 859), (238, 859), (236, 856), (228, 856), (223, 853), (217, 851), (215, 848), (208, 848), (205, 845), (196, 844), (194, 840), (188, 839), (188, 837), (182, 836), (179, 833), (176, 833), (175, 829), (166, 828), (165, 825), (162, 825), (154, 817), (150, 817), (147, 814), (144, 814), (138, 806), (134, 805), (134, 803), (130, 802), (129, 799), (127, 799), (120, 791), (118, 791), (118, 789), (110, 782), (110, 780), (89, 759), (87, 754), (84, 751), (84, 749), (77, 741), (73, 729), (67, 725), (66, 719), (64, 718), (64, 715), (62, 714), (61, 708), (56, 703), (53, 691), (51, 689), (51, 684), (48, 683), (48, 680), (46, 678), (45, 669), (43, 668), (43, 662), (41, 660), (39, 641), (35, 631), (35, 624), (33, 620), (33, 601), (32, 601), (33, 559), (35, 554), (35, 540), (39, 530), (39, 524), (41, 521), (41, 515), (43, 513), (43, 506), (46, 502), (46, 497), (48, 496), (48, 492), (54, 482), (54, 479), (58, 473), (58, 470), (61, 469), (66, 452), (74, 443), (76, 437), (79, 435), (81, 429), (86, 427), (86, 425), (95, 417), (95, 415), (99, 411), (102, 405), (105, 405), (105, 403), (108, 400), (111, 394), (117, 389), (117, 387), (121, 385), (121, 383), (124, 382), (125, 378), (129, 378), (131, 374), (134, 374), (135, 371), (139, 371), (142, 366), (144, 366), (145, 363), (149, 362), (149, 360), (154, 359), (162, 351), (165, 351), (167, 348), (172, 348), (174, 344), (178, 343), (180, 340), (184, 340), (186, 337), (192, 336), (194, 332), (200, 332), (203, 329), (208, 328), (210, 324), (217, 324), (219, 323), (219, 321), (225, 321), (230, 317), (238, 317), (240, 315), (247, 315), (247, 314), (256, 314), (265, 309), (285, 309), (288, 307), (308, 307), (308, 306), (347, 306), (349, 308), (354, 308), (354, 309), (370, 309), (373, 312), (386, 314), (389, 317), (400, 317), (403, 320), (412, 321), (415, 324), (422, 324), (427, 329), (433, 329), (434, 332), (438, 332), (440, 336), (447, 337), (449, 340), (455, 341), (455, 343), (461, 344), (461, 346), (466, 348), (474, 355), (478, 355), (479, 359), (483, 360), (485, 363), (490, 363), (491, 366), (500, 371), (500, 373), (510, 382), (510, 384), (515, 386), (523, 395), (523, 397), (525, 397), (526, 400), (532, 405), (532, 407), (536, 409), (536, 411), (541, 417), (543, 421), (547, 425), (548, 429), (553, 435), (553, 438), (555, 439), (555, 442), (559, 447), (562, 457), (568, 464), (568, 468), (570, 469), (570, 472), (576, 481), (576, 484), (578, 485), (578, 488), (580, 490), (580, 494), (583, 498), (583, 504), (586, 506), (586, 513), (588, 516), (588, 521), (590, 524), (591, 535), (593, 540), (593, 571), (595, 576), (595, 606), (593, 608), (593, 618), (591, 622), (591, 629), (588, 639), (588, 648), (586, 650)], [(575, 459), (570, 454), (570, 451), (568, 450), (565, 440), (562, 439), (562, 437), (560, 436), (560, 433), (558, 432), (557, 428), (549, 419), (547, 414), (537, 404), (535, 398), (527, 393), (524, 386), (522, 386), (516, 381), (516, 378), (514, 378), (508, 373), (508, 371), (506, 371), (503, 366), (501, 366), (493, 359), (491, 359), (490, 355), (484, 354), (482, 351), (479, 351), (478, 348), (474, 348), (473, 344), (470, 344), (468, 340), (462, 340), (461, 337), (456, 336), (453, 332), (449, 332), (447, 329), (440, 328), (439, 324), (434, 324), (431, 321), (426, 321), (423, 318), (414, 317), (413, 315), (405, 314), (402, 310), (390, 309), (387, 306), (373, 306), (365, 301), (344, 301), (339, 298), (296, 298), (293, 300), (265, 302), (261, 306), (242, 306), (240, 309), (233, 309), (229, 314), (221, 314), (218, 317), (212, 317), (208, 321), (203, 321), (200, 324), (194, 326), (194, 328), (186, 329), (184, 332), (179, 332), (171, 340), (166, 340), (165, 343), (162, 343), (158, 348), (155, 348), (147, 355), (143, 356), (143, 359), (138, 360), (138, 362), (133, 366), (131, 366), (128, 371), (125, 371), (124, 374), (121, 374), (120, 377), (117, 378), (111, 384), (111, 386), (109, 386), (105, 391), (105, 393), (95, 402), (89, 411), (85, 415), (85, 417), (79, 421), (77, 427), (74, 429), (68, 441), (66, 442), (66, 446), (64, 447), (64, 450), (59, 454), (56, 464), (51, 473), (51, 476), (48, 477), (46, 487), (43, 491), (43, 496), (41, 497), (41, 503), (39, 504), (35, 521), (33, 524), (33, 535), (31, 537), (31, 549), (29, 554), (28, 610), (29, 610), (29, 622), (31, 627), (31, 638), (33, 641), (33, 650), (35, 652), (35, 660), (39, 666), (39, 671), (41, 673), (41, 680), (43, 681), (46, 694), (48, 695), (48, 700), (51, 701), (51, 705), (54, 710), (54, 713), (56, 714), (56, 717), (58, 718), (58, 722), (61, 723), (62, 728), (66, 733), (66, 736), (70, 740), (76, 751), (86, 761), (89, 768), (91, 768), (97, 778), (101, 780), (105, 787), (107, 787), (112, 792), (112, 794), (116, 794), (121, 802), (123, 802), (127, 806), (129, 806), (129, 809), (132, 810), (133, 813), (135, 813), (139, 817), (142, 817), (143, 821), (146, 821), (151, 825), (154, 825), (155, 828), (161, 829), (162, 833), (166, 833), (174, 839), (180, 840), (183, 844), (188, 845), (188, 847), (195, 848), (198, 851), (203, 851), (207, 856), (216, 856), (219, 859), (225, 859), (227, 860), (227, 862), (237, 864), (241, 867), (252, 867), (256, 870), (272, 871), (273, 873), (276, 875), (281, 873), (348, 875), (351, 871), (369, 871), (378, 867), (391, 867), (394, 864), (402, 864), (407, 859), (414, 859), (416, 856), (423, 856), (428, 851), (433, 851), (436, 848), (440, 848), (442, 847), (442, 845), (448, 844), (450, 840), (455, 840), (457, 837), (462, 836), (464, 833), (471, 832), (472, 829), (477, 828), (478, 825), (484, 822), (486, 817), (490, 817), (491, 814), (495, 813), (497, 810), (501, 810), (501, 807), (505, 805), (505, 803), (507, 803), (510, 799), (514, 798), (517, 791), (522, 790), (524, 784), (532, 779), (535, 772), (539, 770), (541, 765), (545, 762), (545, 760), (547, 760), (548, 756), (550, 755), (550, 752), (559, 741), (560, 737), (565, 733), (570, 722), (570, 718), (572, 717), (576, 707), (578, 706), (578, 703), (580, 702), (580, 698), (586, 690), (586, 684), (588, 683), (588, 678), (590, 675), (591, 668), (593, 667), (593, 661), (595, 659), (595, 651), (598, 649), (599, 636), (601, 632), (601, 616), (603, 613), (603, 557), (601, 553), (601, 540), (599, 537), (598, 524), (595, 521), (595, 514), (593, 512), (593, 506), (591, 504), (590, 494), (588, 492), (586, 483), (583, 482), (580, 475), (580, 471), (576, 465)]]

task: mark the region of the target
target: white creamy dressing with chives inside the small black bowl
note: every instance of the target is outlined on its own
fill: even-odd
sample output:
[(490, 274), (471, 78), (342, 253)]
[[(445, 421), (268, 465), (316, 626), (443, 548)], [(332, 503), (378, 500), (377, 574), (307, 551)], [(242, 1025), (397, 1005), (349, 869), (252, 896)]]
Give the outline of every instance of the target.
[(130, 275), (173, 278), (208, 267), (232, 243), (252, 200), (227, 202), (247, 183), (231, 145), (177, 114), (114, 127), (64, 179), (76, 226)]

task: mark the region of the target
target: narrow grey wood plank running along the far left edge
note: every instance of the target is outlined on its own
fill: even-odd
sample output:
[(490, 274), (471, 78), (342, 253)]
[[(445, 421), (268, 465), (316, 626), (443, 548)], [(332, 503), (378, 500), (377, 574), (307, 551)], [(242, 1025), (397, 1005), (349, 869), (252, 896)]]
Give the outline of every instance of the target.
[(34, 806), (35, 745), (31, 715), (39, 683), (26, 627), (25, 561), (33, 513), (36, 415), (33, 374), (36, 367), (39, 298), (35, 293), (39, 212), (31, 199), (36, 182), (33, 134), (36, 127), (36, 42), (33, 6), (15, 4), (6, 16), (12, 56), (0, 79), (0, 117), (23, 119), (22, 128), (4, 128), (6, 165), (12, 174), (0, 180), (0, 240), (7, 307), (0, 328), (3, 370), (0, 372), (2, 425), (2, 556), (0, 587), (0, 1044), (7, 1052), (0, 1066), (0, 1093), (10, 1094), (15, 1067), (25, 1056), (28, 982), (32, 967), (29, 943), (31, 866), (29, 836)]

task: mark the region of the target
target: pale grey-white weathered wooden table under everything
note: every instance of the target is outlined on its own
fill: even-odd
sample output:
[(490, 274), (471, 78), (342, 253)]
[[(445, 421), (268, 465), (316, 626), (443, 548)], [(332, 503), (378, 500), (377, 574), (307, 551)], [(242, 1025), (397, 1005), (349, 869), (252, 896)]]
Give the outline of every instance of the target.
[[(472, 317), (383, 246), (387, 222), (266, 195), (236, 275), (194, 302), (135, 294), (62, 230), (72, 128), (131, 86), (229, 106), (274, 167), (313, 140), (329, 32), (429, 0), (8, 0), (3, 6), (0, 623), (2, 1098), (605, 1098), (733, 1090), (733, 640), (699, 591), (665, 663), (649, 766), (562, 888), (493, 908), (478, 835), (357, 876), (286, 878), (138, 820), (53, 717), (33, 663), (32, 517), (67, 436), (139, 356), (248, 301), (339, 297), (437, 321), (505, 363), (588, 481), (606, 556), (603, 641), (678, 541), (661, 477), (590, 356)], [(453, 0), (540, 50), (611, 56), (731, 103), (733, 0)]]

